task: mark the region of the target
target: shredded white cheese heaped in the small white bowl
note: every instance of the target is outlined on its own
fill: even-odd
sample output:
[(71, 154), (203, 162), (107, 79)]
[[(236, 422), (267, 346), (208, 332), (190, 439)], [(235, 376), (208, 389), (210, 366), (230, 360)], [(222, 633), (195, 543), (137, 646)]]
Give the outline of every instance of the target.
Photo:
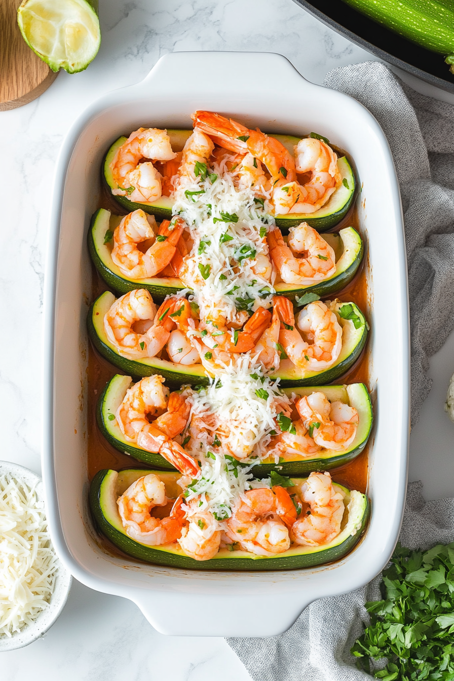
[(0, 635), (11, 637), (49, 605), (57, 563), (44, 502), (34, 487), (0, 476)]

